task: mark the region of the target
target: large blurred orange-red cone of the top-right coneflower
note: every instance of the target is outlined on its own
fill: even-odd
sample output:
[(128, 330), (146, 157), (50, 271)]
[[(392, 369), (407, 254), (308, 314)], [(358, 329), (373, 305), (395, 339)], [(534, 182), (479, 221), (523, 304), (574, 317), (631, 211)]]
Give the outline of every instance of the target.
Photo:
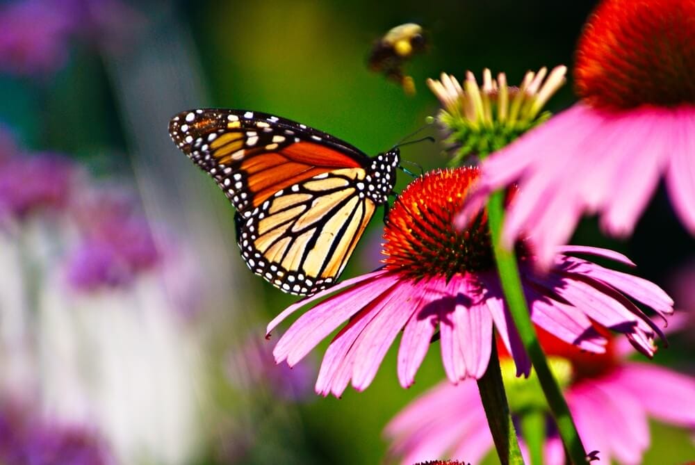
[(578, 94), (612, 110), (694, 104), (694, 18), (694, 0), (600, 3), (578, 44)]

